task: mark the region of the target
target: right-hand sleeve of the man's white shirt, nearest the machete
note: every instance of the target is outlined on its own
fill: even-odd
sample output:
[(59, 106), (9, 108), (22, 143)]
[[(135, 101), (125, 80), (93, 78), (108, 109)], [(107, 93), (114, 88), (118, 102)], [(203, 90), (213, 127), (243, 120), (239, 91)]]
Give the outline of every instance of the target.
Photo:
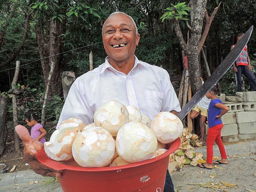
[(162, 99), (161, 111), (177, 111), (180, 112), (180, 102), (177, 98), (175, 90), (170, 81), (170, 76), (166, 70), (164, 70), (163, 82), (164, 82), (164, 94)]

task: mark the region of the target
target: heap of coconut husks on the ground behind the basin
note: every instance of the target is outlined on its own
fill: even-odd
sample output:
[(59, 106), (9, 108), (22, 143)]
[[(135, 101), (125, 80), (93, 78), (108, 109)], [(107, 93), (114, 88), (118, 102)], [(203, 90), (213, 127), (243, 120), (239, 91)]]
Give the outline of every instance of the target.
[[(205, 163), (203, 154), (196, 153), (194, 147), (201, 147), (202, 143), (196, 134), (189, 132), (188, 128), (183, 128), (180, 147), (169, 156), (169, 172), (179, 171), (184, 165), (197, 166), (198, 163)], [(194, 147), (193, 147), (194, 146)]]

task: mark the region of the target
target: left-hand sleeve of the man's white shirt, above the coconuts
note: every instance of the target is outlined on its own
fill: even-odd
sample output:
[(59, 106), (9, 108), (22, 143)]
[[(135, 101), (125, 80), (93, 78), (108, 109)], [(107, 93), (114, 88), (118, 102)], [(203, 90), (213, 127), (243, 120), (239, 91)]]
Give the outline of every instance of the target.
[(87, 103), (84, 84), (80, 78), (76, 79), (70, 87), (56, 128), (61, 122), (71, 117), (81, 119), (86, 125), (93, 122), (93, 112)]

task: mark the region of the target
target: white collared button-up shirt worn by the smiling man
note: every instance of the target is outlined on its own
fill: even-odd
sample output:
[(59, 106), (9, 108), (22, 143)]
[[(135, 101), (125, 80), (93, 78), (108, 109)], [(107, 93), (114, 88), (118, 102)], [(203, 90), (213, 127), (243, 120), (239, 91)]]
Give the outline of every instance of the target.
[(105, 63), (72, 84), (58, 125), (70, 117), (90, 124), (96, 109), (111, 99), (126, 106), (136, 106), (150, 119), (160, 111), (180, 111), (180, 103), (166, 70), (139, 61), (135, 56), (134, 67), (126, 75), (114, 69), (107, 57)]

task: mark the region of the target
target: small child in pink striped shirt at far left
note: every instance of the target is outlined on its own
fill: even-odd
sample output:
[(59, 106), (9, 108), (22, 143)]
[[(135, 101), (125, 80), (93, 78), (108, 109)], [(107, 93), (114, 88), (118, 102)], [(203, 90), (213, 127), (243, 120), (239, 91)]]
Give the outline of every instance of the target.
[(43, 128), (43, 126), (37, 122), (38, 116), (36, 113), (31, 113), (28, 116), (26, 116), (25, 122), (27, 125), (29, 125), (31, 128), (30, 136), (32, 139), (37, 140), (41, 142), (44, 145), (45, 142), (45, 135), (47, 134), (47, 131)]

